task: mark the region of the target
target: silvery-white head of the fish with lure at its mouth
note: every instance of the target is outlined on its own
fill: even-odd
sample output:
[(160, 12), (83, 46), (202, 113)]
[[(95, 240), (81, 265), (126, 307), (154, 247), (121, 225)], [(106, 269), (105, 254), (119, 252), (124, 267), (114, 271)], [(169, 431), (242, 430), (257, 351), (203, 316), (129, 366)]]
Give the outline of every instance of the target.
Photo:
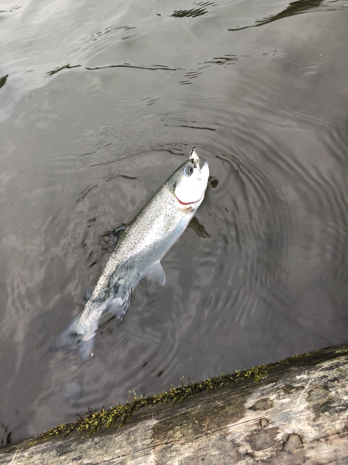
[(189, 160), (179, 166), (169, 179), (169, 188), (174, 194), (175, 204), (180, 209), (196, 211), (203, 202), (208, 177), (208, 162), (200, 167), (200, 159), (193, 147)]

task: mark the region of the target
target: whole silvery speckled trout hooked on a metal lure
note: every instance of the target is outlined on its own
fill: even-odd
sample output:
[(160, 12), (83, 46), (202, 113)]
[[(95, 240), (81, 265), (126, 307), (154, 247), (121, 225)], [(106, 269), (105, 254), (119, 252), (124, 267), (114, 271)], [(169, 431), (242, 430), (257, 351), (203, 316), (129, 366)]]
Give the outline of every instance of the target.
[(129, 223), (116, 228), (118, 240), (96, 286), (87, 294), (84, 311), (52, 344), (51, 349), (78, 347), (90, 355), (101, 316), (123, 319), (132, 290), (146, 277), (164, 285), (161, 259), (179, 239), (202, 203), (209, 176), (200, 168), (193, 147), (189, 160), (177, 168)]

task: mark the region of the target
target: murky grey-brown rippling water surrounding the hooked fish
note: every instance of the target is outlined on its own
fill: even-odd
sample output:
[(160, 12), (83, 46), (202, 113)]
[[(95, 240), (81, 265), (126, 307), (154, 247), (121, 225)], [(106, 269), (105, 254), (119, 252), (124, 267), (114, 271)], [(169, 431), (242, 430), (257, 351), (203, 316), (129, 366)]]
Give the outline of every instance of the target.
[[(0, 438), (347, 342), (347, 1), (0, 12)], [(301, 14), (300, 14), (301, 13)], [(219, 184), (94, 357), (49, 354), (195, 145)], [(5, 428), (7, 431), (5, 432)]]

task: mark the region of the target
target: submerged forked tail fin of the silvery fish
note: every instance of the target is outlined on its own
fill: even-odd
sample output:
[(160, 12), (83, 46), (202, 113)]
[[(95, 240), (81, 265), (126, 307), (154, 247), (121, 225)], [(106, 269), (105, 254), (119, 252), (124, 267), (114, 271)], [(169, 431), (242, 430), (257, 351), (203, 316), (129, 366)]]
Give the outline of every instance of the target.
[(77, 350), (82, 359), (87, 359), (92, 353), (95, 335), (95, 330), (85, 334), (77, 334), (76, 325), (73, 322), (53, 340), (48, 350), (49, 352), (73, 352)]

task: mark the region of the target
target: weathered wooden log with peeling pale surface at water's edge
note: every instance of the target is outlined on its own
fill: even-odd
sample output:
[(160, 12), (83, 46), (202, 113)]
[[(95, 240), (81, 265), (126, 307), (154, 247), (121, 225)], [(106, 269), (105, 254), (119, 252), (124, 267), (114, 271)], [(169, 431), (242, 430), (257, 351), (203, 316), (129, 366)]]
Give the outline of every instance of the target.
[(228, 376), (145, 405), (124, 428), (7, 445), (0, 464), (348, 464), (348, 344)]

